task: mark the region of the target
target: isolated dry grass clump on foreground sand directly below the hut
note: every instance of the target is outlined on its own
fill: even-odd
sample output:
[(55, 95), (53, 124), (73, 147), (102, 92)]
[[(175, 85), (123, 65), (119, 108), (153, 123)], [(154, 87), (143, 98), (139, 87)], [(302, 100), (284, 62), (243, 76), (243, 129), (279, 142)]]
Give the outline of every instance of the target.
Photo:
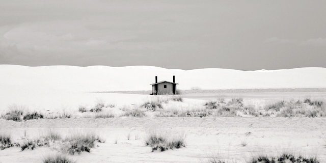
[(168, 137), (167, 134), (152, 131), (147, 133), (144, 141), (145, 145), (152, 147), (152, 152), (154, 150), (160, 150), (162, 152), (168, 149), (185, 147), (185, 138), (186, 135), (184, 133)]

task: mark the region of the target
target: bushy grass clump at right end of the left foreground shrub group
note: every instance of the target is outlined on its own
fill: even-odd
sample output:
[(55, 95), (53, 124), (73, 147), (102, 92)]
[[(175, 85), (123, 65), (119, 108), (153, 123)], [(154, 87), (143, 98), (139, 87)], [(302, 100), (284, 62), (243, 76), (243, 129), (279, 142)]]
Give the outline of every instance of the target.
[(71, 155), (75, 153), (80, 154), (83, 151), (90, 152), (91, 148), (93, 148), (95, 145), (94, 144), (95, 140), (96, 140), (96, 136), (91, 133), (73, 134), (64, 140), (66, 144), (62, 147), (62, 150)]

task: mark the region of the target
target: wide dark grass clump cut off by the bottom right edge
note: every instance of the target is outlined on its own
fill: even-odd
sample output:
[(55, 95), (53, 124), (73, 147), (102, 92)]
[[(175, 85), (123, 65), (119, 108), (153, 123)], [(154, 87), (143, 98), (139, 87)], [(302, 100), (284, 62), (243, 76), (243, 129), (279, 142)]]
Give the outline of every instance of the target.
[(258, 163), (258, 162), (265, 162), (265, 163), (320, 163), (320, 161), (316, 157), (303, 157), (303, 156), (295, 156), (291, 153), (283, 153), (277, 157), (275, 156), (268, 156), (266, 154), (261, 154), (255, 157), (252, 157), (247, 163)]

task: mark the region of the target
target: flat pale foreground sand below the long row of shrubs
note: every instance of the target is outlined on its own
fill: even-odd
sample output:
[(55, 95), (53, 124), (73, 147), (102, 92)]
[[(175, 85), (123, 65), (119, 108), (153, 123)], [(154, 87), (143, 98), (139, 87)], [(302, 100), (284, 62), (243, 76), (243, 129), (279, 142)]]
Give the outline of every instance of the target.
[[(90, 153), (71, 156), (77, 162), (201, 162), (214, 153), (223, 159), (244, 162), (261, 152), (277, 154), (292, 151), (303, 155), (317, 155), (326, 162), (326, 118), (112, 118), (112, 119), (56, 119), (13, 122), (0, 120), (3, 131), (11, 132), (14, 140), (26, 130), (28, 137), (52, 128), (63, 135), (75, 130), (99, 133), (106, 139), (97, 143)], [(186, 148), (151, 152), (143, 143), (147, 130), (185, 132)], [(126, 134), (132, 137), (127, 140)], [(250, 135), (246, 135), (251, 132)], [(134, 135), (141, 139), (135, 140)], [(118, 138), (118, 143), (114, 140)], [(241, 146), (246, 140), (247, 146)], [(47, 147), (20, 151), (17, 147), (0, 151), (0, 161), (41, 162), (41, 157), (55, 152)]]

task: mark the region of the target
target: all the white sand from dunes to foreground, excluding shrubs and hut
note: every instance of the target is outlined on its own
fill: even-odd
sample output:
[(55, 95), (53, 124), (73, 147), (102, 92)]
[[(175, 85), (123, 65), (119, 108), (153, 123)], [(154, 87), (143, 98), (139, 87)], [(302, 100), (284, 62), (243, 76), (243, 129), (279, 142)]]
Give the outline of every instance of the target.
[[(228, 69), (169, 70), (150, 66), (107, 67), (107, 66), (44, 66), (27, 67), (0, 65), (0, 113), (5, 117), (13, 106), (24, 113), (38, 111), (48, 115), (70, 113), (71, 118), (36, 119), (14, 122), (0, 119), (0, 131), (11, 133), (13, 142), (24, 142), (39, 137), (49, 129), (60, 134), (72, 132), (94, 132), (105, 138), (105, 143), (96, 143), (91, 152), (69, 155), (76, 162), (207, 162), (207, 155), (221, 159), (246, 162), (257, 153), (278, 154), (290, 151), (296, 154), (317, 156), (326, 162), (326, 118), (273, 117), (236, 114), (236, 117), (157, 117), (157, 114), (205, 109), (207, 100), (242, 97), (243, 107), (253, 105), (258, 112), (264, 112), (268, 102), (278, 100), (324, 101), (326, 92), (236, 92), (236, 93), (186, 93), (183, 102), (162, 102), (163, 108), (145, 111), (145, 101), (167, 96), (150, 96), (123, 93), (98, 93), (108, 91), (148, 91), (151, 83), (158, 80), (172, 80), (176, 76), (181, 90), (200, 88), (203, 90), (225, 89), (294, 89), (312, 90), (326, 88), (326, 68), (297, 68), (273, 71), (239, 71)], [(115, 118), (95, 118), (91, 112), (78, 112), (79, 106), (87, 110), (102, 101), (103, 113)], [(290, 102), (288, 102), (290, 103)], [(225, 104), (226, 105), (226, 104)], [(315, 109), (307, 103), (300, 106)], [(143, 118), (122, 116), (127, 111), (141, 108)], [(242, 106), (241, 106), (242, 108)], [(326, 113), (320, 111), (320, 115)], [(91, 117), (91, 118), (90, 118)], [(163, 152), (151, 151), (144, 144), (148, 130), (174, 134), (186, 134), (186, 147)], [(26, 131), (26, 138), (23, 133)], [(127, 140), (126, 135), (132, 137)], [(250, 134), (246, 134), (249, 133)], [(135, 140), (135, 135), (140, 139)], [(114, 141), (118, 139), (118, 143)], [(242, 146), (241, 142), (247, 142)], [(0, 162), (42, 162), (41, 158), (60, 150), (53, 147), (36, 147), (21, 151), (18, 147), (0, 150)]]

